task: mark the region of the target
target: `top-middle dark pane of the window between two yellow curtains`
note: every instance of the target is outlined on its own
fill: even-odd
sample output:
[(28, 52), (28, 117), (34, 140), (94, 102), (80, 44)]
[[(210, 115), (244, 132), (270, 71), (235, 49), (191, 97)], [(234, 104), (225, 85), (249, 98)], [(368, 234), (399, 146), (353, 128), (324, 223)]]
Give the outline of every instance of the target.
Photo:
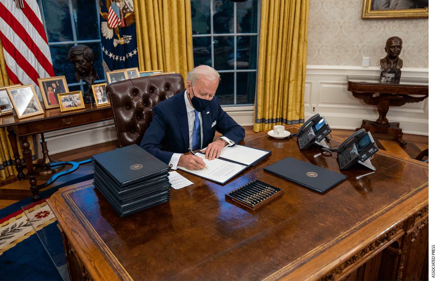
[(213, 33), (234, 33), (233, 6), (229, 0), (213, 1), (213, 10), (216, 11), (213, 15)]

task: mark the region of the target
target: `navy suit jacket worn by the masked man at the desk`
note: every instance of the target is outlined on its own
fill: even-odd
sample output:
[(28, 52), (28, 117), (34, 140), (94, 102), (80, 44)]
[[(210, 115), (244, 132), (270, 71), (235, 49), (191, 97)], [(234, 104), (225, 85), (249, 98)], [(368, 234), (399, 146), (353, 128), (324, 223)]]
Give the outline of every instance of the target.
[[(166, 164), (173, 153), (189, 152), (190, 136), (184, 94), (185, 90), (154, 106), (154, 117), (140, 143), (141, 148)], [(213, 141), (215, 131), (236, 143), (244, 139), (244, 128), (223, 111), (217, 97), (213, 97), (208, 107), (201, 111), (201, 116), (202, 148)]]

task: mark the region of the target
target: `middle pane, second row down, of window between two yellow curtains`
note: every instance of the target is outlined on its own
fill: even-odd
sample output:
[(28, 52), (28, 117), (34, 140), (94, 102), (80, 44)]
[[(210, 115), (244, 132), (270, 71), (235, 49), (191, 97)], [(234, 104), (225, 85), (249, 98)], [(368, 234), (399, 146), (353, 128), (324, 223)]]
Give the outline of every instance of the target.
[(214, 36), (216, 70), (234, 69), (234, 36)]

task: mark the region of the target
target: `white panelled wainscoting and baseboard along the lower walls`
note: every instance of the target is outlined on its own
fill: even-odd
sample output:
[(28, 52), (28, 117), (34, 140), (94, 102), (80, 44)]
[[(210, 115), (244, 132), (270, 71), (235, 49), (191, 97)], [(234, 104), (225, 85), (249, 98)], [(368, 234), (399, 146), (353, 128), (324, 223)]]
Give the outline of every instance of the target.
[[(354, 98), (347, 90), (347, 81), (349, 75), (378, 77), (379, 71), (378, 67), (307, 66), (304, 118), (319, 113), (331, 128), (349, 130), (359, 128), (363, 119), (376, 120), (377, 108)], [(402, 76), (410, 81), (428, 82), (429, 69), (403, 68)], [(242, 126), (254, 124), (254, 106), (223, 107), (223, 110)], [(405, 134), (429, 135), (429, 99), (390, 107), (387, 118), (399, 122)], [(117, 140), (113, 120), (45, 133), (44, 138), (50, 155)], [(41, 158), (39, 143), (38, 147)]]

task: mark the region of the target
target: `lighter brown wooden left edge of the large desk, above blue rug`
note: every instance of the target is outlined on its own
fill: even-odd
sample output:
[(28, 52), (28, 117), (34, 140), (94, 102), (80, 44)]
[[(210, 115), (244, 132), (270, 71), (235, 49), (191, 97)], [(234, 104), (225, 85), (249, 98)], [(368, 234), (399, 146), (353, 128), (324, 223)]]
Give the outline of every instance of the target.
[[(81, 212), (77, 208), (74, 209), (75, 205), (67, 204), (67, 207), (66, 204), (63, 204), (67, 202), (65, 200), (65, 193), (89, 187), (92, 182), (93, 180), (87, 180), (80, 184), (60, 188), (59, 191), (47, 200), (47, 205), (52, 210), (57, 210), (57, 213), (54, 212), (54, 215), (62, 229), (63, 239), (64, 236), (68, 239), (74, 247), (79, 260), (82, 263), (84, 260), (89, 260), (88, 263), (84, 263), (84, 267), (92, 280), (132, 280), (113, 253), (106, 246), (102, 248), (103, 242), (96, 243), (99, 242), (96, 239), (101, 239), (97, 235), (92, 235), (89, 223), (83, 215), (81, 217)], [(74, 229), (74, 235), (71, 231), (72, 229)]]

